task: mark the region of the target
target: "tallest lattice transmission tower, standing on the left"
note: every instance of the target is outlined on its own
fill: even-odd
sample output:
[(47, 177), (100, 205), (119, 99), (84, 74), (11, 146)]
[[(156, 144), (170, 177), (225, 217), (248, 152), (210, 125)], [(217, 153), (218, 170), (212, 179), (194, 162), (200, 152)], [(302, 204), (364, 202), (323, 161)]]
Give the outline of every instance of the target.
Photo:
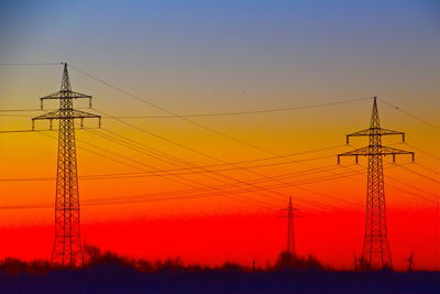
[(75, 119), (82, 121), (86, 118), (101, 117), (74, 109), (74, 99), (89, 99), (91, 96), (73, 91), (67, 72), (67, 63), (64, 64), (61, 90), (41, 99), (43, 109), (44, 100), (59, 100), (59, 109), (32, 119), (32, 129), (35, 120), (48, 120), (51, 129), (53, 120), (59, 121), (58, 128), (58, 159), (55, 196), (55, 239), (51, 262), (55, 266), (78, 266), (82, 260), (82, 248), (79, 236), (79, 190), (78, 171), (75, 143)]

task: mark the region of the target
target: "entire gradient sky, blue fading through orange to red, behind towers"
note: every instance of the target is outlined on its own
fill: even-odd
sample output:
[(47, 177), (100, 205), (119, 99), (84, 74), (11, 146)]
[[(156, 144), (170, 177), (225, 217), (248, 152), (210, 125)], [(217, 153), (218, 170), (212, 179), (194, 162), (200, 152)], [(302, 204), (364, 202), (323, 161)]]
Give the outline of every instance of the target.
[[(385, 143), (415, 151), (417, 161), (410, 164), (410, 159), (403, 156), (398, 159), (402, 166), (393, 165), (389, 159), (385, 164), (394, 263), (403, 269), (405, 259), (414, 252), (416, 268), (440, 269), (439, 17), (438, 1), (3, 0), (0, 1), (0, 64), (67, 62), (179, 115), (296, 107), (377, 96), (383, 99), (378, 104), (382, 126), (406, 132), (409, 145), (397, 144), (398, 138), (386, 139)], [(56, 91), (61, 75), (61, 65), (0, 66), (0, 109), (38, 108), (37, 98)], [(94, 107), (106, 113), (166, 115), (75, 68), (70, 68), (70, 81), (74, 90), (92, 95)], [(384, 100), (435, 126), (405, 115)], [(77, 101), (76, 106), (87, 104)], [(125, 120), (223, 162), (336, 148), (289, 157), (326, 156), (305, 162), (307, 166), (272, 159), (243, 164), (248, 170), (219, 172), (222, 178), (183, 175), (201, 187), (262, 178), (255, 173), (264, 176), (297, 173), (283, 179), (292, 186), (274, 188), (277, 194), (208, 193), (205, 196), (212, 197), (84, 205), (82, 238), (87, 243), (131, 257), (179, 255), (185, 262), (207, 264), (226, 260), (249, 264), (255, 258), (264, 265), (273, 262), (285, 247), (285, 218), (277, 210), (293, 195), (301, 215), (296, 219), (298, 253), (316, 254), (326, 263), (349, 268), (363, 242), (366, 161), (352, 165), (353, 159), (344, 159), (343, 166), (350, 165), (353, 172), (337, 166), (331, 155), (366, 144), (360, 138), (352, 141), (352, 146), (343, 145), (345, 134), (369, 127), (371, 106), (372, 100), (364, 99), (286, 112), (191, 118), (257, 148), (182, 119)], [(29, 129), (30, 118), (41, 113), (1, 112), (0, 130)], [(86, 124), (96, 127), (95, 121)], [(78, 149), (81, 176), (151, 172), (151, 166), (183, 167), (99, 137), (111, 135), (108, 130), (196, 165), (219, 164), (112, 119), (105, 118), (102, 126), (105, 130), (78, 131), (78, 146), (138, 167)], [(46, 129), (47, 124), (38, 122), (37, 128)], [(56, 137), (54, 132), (47, 134)], [(53, 177), (56, 148), (55, 140), (40, 133), (0, 134), (0, 179)], [(258, 164), (268, 166), (250, 167)], [(231, 166), (217, 168), (228, 167)], [(310, 172), (320, 167), (328, 170)], [(333, 175), (331, 181), (321, 181)], [(87, 204), (97, 198), (189, 188), (176, 183), (177, 179), (176, 176), (80, 179), (80, 198)], [(272, 184), (278, 183), (256, 185)], [(0, 257), (50, 255), (53, 209), (4, 207), (51, 204), (54, 194), (54, 181), (0, 181), (0, 233), (2, 240), (8, 240), (0, 242)], [(261, 203), (273, 209), (262, 208)]]

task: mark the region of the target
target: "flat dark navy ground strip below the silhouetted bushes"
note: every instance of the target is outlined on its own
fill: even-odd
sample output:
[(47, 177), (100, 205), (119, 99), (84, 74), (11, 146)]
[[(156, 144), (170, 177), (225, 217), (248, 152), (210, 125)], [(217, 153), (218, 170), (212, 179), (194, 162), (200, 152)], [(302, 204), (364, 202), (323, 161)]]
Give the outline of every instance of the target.
[(124, 268), (0, 275), (2, 293), (440, 293), (439, 272), (162, 271)]

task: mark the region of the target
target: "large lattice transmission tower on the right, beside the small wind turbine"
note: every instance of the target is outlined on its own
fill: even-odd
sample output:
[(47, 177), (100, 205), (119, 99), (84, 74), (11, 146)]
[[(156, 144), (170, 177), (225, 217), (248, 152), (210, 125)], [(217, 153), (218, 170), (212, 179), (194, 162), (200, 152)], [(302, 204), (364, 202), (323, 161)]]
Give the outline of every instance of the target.
[(346, 144), (351, 137), (369, 137), (370, 144), (338, 154), (338, 164), (341, 156), (354, 156), (356, 163), (359, 156), (369, 156), (365, 237), (361, 260), (369, 270), (393, 266), (386, 226), (383, 157), (393, 155), (393, 162), (395, 162), (397, 154), (410, 154), (414, 161), (414, 152), (382, 145), (382, 137), (393, 134), (402, 135), (403, 142), (405, 142), (405, 133), (381, 128), (377, 101), (374, 97), (370, 128), (346, 135)]

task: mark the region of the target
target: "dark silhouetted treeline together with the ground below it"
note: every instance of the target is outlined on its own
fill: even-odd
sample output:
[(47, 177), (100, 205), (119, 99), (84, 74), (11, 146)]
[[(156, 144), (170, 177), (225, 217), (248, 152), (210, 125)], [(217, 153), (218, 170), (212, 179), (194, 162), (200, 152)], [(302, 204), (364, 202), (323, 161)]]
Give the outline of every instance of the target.
[[(87, 247), (85, 265), (0, 262), (1, 293), (440, 293), (439, 272), (334, 271), (315, 257), (282, 252), (274, 264), (186, 265), (146, 261)], [(262, 264), (261, 264), (262, 265)]]

